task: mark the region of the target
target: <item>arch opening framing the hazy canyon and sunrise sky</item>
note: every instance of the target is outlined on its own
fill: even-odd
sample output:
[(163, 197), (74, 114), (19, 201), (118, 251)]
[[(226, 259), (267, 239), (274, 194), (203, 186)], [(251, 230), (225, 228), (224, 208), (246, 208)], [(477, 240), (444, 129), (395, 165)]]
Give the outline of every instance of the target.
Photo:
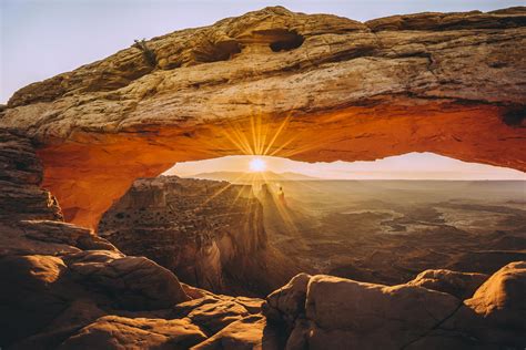
[(300, 271), (384, 285), (429, 268), (489, 274), (526, 248), (525, 179), (433, 153), (226, 156), (136, 179), (98, 230), (184, 282), (234, 295), (264, 296)]

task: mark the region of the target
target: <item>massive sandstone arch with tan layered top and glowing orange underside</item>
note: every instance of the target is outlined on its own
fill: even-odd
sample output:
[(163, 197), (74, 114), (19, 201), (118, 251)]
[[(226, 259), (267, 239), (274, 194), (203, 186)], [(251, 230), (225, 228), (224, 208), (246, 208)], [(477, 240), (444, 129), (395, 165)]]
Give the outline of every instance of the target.
[(23, 87), (0, 126), (40, 142), (44, 187), (90, 227), (136, 177), (229, 154), (524, 171), (525, 24), (524, 8), (365, 23), (266, 8)]

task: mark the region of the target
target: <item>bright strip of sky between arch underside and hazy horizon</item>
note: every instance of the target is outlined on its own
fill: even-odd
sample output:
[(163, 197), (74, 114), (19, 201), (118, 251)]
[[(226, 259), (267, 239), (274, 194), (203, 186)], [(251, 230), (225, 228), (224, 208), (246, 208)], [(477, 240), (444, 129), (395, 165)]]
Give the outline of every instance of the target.
[(304, 163), (269, 156), (226, 156), (199, 162), (178, 163), (165, 175), (190, 177), (212, 172), (251, 172), (254, 158), (265, 162), (266, 171), (299, 173), (324, 179), (519, 179), (526, 173), (466, 163), (434, 153), (408, 153), (374, 162)]

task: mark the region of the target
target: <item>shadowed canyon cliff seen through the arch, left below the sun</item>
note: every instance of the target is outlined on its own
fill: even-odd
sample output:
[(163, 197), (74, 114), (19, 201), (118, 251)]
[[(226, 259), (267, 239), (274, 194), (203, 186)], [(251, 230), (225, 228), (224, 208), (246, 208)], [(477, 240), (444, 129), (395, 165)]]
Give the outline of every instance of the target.
[(215, 292), (264, 290), (264, 296), (272, 289), (263, 277), (271, 272), (262, 212), (250, 186), (141, 178), (104, 213), (99, 235), (192, 286)]

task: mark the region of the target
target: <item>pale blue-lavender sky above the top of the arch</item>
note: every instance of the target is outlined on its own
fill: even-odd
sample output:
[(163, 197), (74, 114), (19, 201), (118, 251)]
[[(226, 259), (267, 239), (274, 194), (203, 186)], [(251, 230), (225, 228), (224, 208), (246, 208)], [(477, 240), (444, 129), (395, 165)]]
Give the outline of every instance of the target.
[(423, 11), (489, 11), (508, 0), (0, 0), (0, 103), (36, 81), (73, 70), (128, 48), (134, 39), (211, 24), (266, 6), (333, 13), (365, 21)]

